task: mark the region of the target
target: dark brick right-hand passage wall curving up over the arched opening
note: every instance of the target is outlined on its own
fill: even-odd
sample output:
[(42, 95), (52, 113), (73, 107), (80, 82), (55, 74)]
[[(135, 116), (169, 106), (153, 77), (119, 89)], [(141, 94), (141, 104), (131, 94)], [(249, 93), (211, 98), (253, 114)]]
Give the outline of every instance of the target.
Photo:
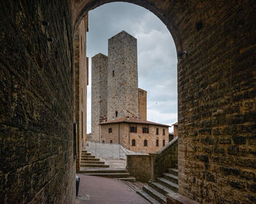
[[(74, 28), (90, 9), (110, 2), (113, 1), (72, 1)], [(246, 189), (246, 178), (239, 176), (241, 169), (252, 173), (255, 168), (246, 164), (246, 158), (239, 153), (241, 149), (248, 152), (251, 162), (256, 161), (249, 154), (255, 142), (245, 146), (250, 143), (249, 138), (255, 138), (252, 133), (244, 132), (247, 125), (255, 130), (255, 106), (245, 108), (245, 104), (255, 103), (255, 82), (249, 84), (255, 76), (252, 61), (255, 28), (249, 23), (255, 19), (252, 17), (255, 4), (125, 2), (138, 4), (157, 15), (176, 43), (179, 192), (201, 203), (256, 199), (255, 192)], [(233, 178), (227, 179), (226, 174)], [(243, 189), (247, 197), (242, 193), (233, 197), (230, 189)]]

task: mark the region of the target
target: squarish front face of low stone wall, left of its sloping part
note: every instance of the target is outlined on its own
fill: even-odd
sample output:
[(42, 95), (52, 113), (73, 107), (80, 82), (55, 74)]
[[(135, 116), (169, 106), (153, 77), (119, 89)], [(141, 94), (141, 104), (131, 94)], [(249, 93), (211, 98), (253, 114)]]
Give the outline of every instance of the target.
[(154, 154), (127, 154), (127, 170), (136, 181), (154, 179)]

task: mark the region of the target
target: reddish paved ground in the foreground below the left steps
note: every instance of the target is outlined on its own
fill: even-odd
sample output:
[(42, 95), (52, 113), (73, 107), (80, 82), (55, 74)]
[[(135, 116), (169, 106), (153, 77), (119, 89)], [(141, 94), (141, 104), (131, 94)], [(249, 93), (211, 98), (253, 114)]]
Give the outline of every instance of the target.
[(75, 204), (149, 204), (123, 181), (78, 174), (80, 187)]

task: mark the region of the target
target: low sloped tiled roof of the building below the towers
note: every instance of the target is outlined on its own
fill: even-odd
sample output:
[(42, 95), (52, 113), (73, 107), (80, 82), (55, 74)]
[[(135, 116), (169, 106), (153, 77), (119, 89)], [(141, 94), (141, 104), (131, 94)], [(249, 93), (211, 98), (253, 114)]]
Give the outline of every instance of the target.
[(160, 124), (157, 122), (150, 122), (148, 120), (138, 119), (137, 117), (120, 117), (118, 119), (109, 120), (107, 122), (100, 122), (99, 125), (120, 123), (120, 122), (138, 123), (138, 124), (146, 124), (146, 125), (159, 125), (159, 126), (170, 127), (170, 125)]

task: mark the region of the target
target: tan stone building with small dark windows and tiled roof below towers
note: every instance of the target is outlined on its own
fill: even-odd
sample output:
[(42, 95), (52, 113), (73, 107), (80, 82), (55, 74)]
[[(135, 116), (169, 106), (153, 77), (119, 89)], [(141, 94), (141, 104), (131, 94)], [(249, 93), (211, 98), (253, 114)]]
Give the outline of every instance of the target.
[(133, 152), (155, 153), (167, 144), (168, 127), (135, 117), (121, 117), (100, 123), (100, 141), (121, 144)]

